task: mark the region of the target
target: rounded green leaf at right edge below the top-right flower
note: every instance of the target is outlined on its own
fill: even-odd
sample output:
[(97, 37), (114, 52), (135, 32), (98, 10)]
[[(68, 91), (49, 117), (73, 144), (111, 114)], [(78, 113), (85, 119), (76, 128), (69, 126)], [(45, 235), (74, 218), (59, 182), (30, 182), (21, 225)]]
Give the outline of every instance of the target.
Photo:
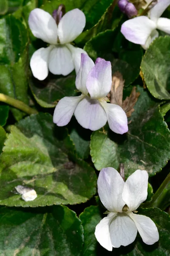
[(144, 81), (157, 99), (170, 99), (170, 37), (156, 38), (145, 52), (141, 64)]

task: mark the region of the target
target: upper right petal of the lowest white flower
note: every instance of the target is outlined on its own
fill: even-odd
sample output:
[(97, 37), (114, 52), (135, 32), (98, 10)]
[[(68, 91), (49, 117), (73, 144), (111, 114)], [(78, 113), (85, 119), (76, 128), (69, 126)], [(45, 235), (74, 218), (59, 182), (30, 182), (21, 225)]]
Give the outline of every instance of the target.
[(136, 170), (127, 178), (122, 192), (122, 198), (129, 207), (129, 211), (136, 210), (146, 200), (147, 185), (147, 171)]

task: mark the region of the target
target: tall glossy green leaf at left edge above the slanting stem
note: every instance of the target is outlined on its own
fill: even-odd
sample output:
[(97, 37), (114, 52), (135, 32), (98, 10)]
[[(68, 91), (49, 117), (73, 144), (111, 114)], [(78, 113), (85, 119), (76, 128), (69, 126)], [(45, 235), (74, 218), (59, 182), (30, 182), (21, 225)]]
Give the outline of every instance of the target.
[[(28, 104), (27, 30), (12, 15), (0, 19), (0, 92)], [(16, 120), (25, 113), (11, 108)]]

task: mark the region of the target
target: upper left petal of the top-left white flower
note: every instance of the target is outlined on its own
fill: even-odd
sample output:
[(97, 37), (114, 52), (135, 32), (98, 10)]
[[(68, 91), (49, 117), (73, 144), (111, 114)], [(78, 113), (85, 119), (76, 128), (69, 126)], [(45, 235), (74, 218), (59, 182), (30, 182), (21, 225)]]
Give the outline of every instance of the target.
[(34, 9), (29, 15), (28, 24), (36, 38), (49, 44), (57, 44), (57, 24), (48, 12)]

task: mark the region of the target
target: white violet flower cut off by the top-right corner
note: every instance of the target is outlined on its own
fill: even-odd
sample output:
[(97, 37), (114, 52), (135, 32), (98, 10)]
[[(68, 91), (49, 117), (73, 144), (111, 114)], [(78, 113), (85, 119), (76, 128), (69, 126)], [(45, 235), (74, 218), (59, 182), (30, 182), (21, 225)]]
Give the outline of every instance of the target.
[(139, 16), (125, 21), (121, 27), (122, 34), (128, 41), (141, 44), (144, 49), (147, 49), (150, 43), (159, 36), (156, 29), (170, 34), (170, 19), (160, 18), (169, 5), (170, 0), (159, 0), (150, 10), (150, 18)]

